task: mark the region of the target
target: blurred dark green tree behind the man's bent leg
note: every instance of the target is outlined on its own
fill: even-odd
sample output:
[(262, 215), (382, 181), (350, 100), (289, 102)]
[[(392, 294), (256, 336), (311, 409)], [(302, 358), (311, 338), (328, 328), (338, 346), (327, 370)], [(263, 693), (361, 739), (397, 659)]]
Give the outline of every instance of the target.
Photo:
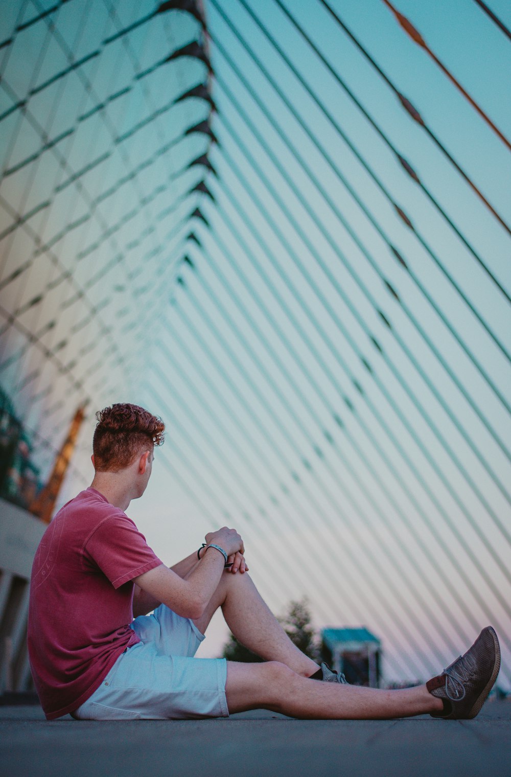
[[(318, 659), (318, 643), (315, 636), (315, 630), (311, 625), (311, 611), (307, 599), (301, 601), (290, 601), (287, 612), (281, 618), (280, 623), (284, 631), (289, 636), (302, 653), (312, 660)], [(222, 653), (228, 661), (242, 661), (244, 664), (252, 664), (255, 661), (262, 661), (252, 650), (238, 642), (232, 634), (228, 642), (224, 645)]]

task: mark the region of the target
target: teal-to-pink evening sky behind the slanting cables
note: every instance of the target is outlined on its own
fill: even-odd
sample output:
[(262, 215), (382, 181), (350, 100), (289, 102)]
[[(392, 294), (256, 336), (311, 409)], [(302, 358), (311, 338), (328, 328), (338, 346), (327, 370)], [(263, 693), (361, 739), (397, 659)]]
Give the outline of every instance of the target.
[[(207, 171), (176, 173), (207, 150), (207, 139), (195, 135), (157, 152), (208, 116), (203, 100), (173, 105), (206, 68), (186, 57), (141, 73), (169, 47), (194, 40), (199, 25), (172, 12), (105, 44), (113, 30), (153, 9), (148, 2), (114, 5), (98, 0), (87, 15), (72, 0), (56, 18), (57, 30), (79, 38), (76, 59), (96, 47), (100, 54), (82, 66), (96, 96), (73, 89), (71, 77), (47, 87), (58, 109), (52, 121), (60, 121), (47, 119), (50, 138), (71, 114), (83, 116), (101, 99), (106, 105), (57, 144), (69, 169), (44, 151), (4, 175), (0, 189), (8, 226), (15, 217), (6, 204), (30, 213), (51, 190), (50, 206), (29, 221), (39, 219), (34, 232), (50, 242), (89, 212), (77, 181), (93, 202), (92, 218), (44, 250), (37, 271), (20, 274), (16, 294), (2, 301), (32, 331), (57, 310), (55, 326), (42, 335), (54, 344), (85, 315), (78, 306), (91, 301), (91, 324), (61, 350), (71, 364), (66, 375), (81, 384), (74, 395), (65, 376), (54, 382), (49, 371), (37, 378), (40, 392), (45, 379), (50, 387), (44, 409), (30, 401), (23, 380), (41, 364), (33, 346), (6, 373), (8, 388), (18, 388), (19, 413), (46, 440), (64, 434), (78, 397), (90, 399), (62, 500), (92, 478), (92, 408), (141, 402), (164, 418), (168, 435), (148, 493), (129, 514), (165, 561), (196, 549), (210, 528), (234, 525), (273, 610), (307, 596), (318, 629), (366, 625), (382, 639), (388, 679), (426, 677), (439, 662), (447, 665), (488, 618), (505, 639), (509, 667), (511, 243), (446, 155), (509, 225), (509, 148), (381, 0), (331, 6), (419, 110), (429, 134), (319, 0), (283, 3), (319, 54), (275, 0), (209, 0), (211, 127), (219, 143), (208, 150), (217, 176), (209, 172), (206, 181), (214, 201), (180, 200)], [(26, 18), (43, 8), (24, 6)], [(506, 3), (491, 7), (511, 24)], [(474, 0), (401, 2), (398, 9), (509, 139), (511, 59), (502, 30)], [(4, 16), (5, 37), (12, 19)], [(16, 54), (30, 51), (37, 61), (47, 36), (54, 44), (42, 22), (30, 30), (30, 45), (12, 47), (0, 64), (2, 98), (12, 105), (35, 89), (27, 105), (43, 124), (50, 92), (37, 92), (37, 84), (61, 68), (62, 47), (40, 55), (39, 80), (22, 82), (28, 75), (16, 67)], [(127, 84), (129, 92), (108, 99)], [(4, 173), (30, 155), (30, 142), (40, 144), (16, 111), (5, 122)], [(102, 154), (108, 159), (71, 180)], [(102, 199), (144, 159), (153, 161)], [(33, 185), (23, 176), (33, 176)], [(137, 202), (137, 215), (108, 235)], [(196, 205), (209, 226), (186, 218)], [(186, 242), (190, 230), (200, 245)], [(2, 277), (26, 256), (21, 232), (2, 241), (18, 239), (4, 254)], [(88, 286), (117, 255), (113, 269)], [(63, 268), (85, 288), (77, 301), (69, 278), (57, 283)], [(23, 312), (41, 287), (46, 302)], [(7, 330), (4, 353), (23, 347), (23, 337)], [(225, 637), (215, 623), (202, 654), (216, 655)], [(508, 668), (501, 676), (509, 684)]]

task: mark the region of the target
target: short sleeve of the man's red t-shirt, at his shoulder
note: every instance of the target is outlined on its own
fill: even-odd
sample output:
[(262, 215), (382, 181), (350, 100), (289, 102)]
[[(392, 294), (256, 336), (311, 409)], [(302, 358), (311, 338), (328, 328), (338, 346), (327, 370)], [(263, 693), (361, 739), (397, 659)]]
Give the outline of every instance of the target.
[(114, 588), (162, 564), (134, 522), (123, 514), (102, 521), (85, 542), (84, 551)]

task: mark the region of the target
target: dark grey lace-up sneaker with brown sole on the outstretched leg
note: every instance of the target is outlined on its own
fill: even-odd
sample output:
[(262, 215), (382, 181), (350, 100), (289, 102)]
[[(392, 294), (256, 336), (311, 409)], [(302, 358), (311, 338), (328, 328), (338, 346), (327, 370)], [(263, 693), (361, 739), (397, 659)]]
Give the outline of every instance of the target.
[(492, 690), (499, 669), (499, 639), (492, 626), (487, 626), (464, 656), (427, 681), (429, 693), (443, 699), (443, 711), (431, 716), (446, 720), (474, 718)]

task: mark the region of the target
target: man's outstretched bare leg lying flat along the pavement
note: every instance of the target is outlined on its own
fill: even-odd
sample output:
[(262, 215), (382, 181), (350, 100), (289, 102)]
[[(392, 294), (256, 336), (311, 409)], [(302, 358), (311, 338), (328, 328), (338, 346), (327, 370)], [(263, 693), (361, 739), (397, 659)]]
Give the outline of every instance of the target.
[(426, 685), (382, 691), (324, 683), (301, 677), (276, 661), (266, 664), (228, 661), (225, 694), (230, 713), (263, 708), (295, 718), (401, 718), (443, 709), (442, 700), (431, 695)]

